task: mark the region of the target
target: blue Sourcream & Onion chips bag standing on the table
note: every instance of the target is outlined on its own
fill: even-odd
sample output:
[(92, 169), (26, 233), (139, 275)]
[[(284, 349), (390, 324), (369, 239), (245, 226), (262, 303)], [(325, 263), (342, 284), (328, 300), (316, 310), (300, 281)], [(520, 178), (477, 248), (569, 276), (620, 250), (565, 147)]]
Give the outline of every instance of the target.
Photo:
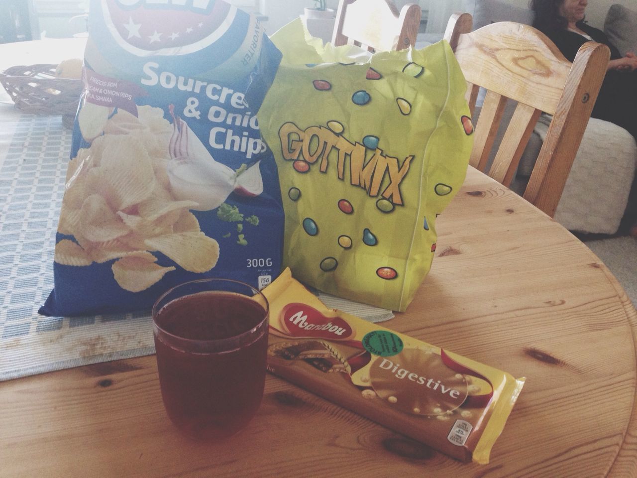
[(149, 310), (187, 280), (276, 278), (283, 208), (255, 113), (280, 59), (255, 17), (220, 0), (92, 0), (41, 314)]

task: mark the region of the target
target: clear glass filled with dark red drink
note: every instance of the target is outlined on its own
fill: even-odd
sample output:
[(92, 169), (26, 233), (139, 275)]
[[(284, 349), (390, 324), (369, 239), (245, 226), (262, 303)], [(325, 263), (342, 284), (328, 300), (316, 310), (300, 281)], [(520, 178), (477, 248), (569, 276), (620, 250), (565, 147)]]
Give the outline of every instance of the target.
[(157, 370), (166, 412), (192, 438), (234, 435), (263, 396), (268, 301), (224, 279), (187, 282), (153, 308)]

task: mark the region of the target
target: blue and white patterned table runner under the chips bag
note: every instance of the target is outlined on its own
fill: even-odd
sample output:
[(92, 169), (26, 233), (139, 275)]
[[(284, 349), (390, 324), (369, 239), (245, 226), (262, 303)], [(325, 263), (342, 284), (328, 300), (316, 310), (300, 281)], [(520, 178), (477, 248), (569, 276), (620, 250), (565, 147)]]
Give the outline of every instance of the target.
[[(59, 116), (19, 115), (0, 144), (0, 380), (154, 354), (150, 314), (45, 317), (71, 131)], [(2, 116), (0, 115), (0, 119)], [(8, 125), (0, 121), (6, 138)], [(390, 310), (318, 297), (373, 322)]]

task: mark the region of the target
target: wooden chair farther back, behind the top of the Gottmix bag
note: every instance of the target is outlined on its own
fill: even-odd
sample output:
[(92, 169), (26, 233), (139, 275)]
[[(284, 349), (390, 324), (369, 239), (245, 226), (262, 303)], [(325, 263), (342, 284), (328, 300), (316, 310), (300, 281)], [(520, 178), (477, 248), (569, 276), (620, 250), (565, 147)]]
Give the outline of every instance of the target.
[(404, 50), (416, 43), (420, 6), (398, 11), (390, 0), (340, 0), (332, 44), (354, 44), (370, 52)]

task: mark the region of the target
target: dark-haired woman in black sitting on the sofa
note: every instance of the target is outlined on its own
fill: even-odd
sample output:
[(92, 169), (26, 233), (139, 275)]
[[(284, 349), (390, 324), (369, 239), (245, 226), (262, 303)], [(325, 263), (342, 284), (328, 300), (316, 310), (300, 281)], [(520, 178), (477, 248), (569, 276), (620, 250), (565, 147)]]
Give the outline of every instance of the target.
[[(637, 140), (637, 56), (627, 52), (622, 57), (601, 30), (583, 21), (587, 4), (587, 0), (531, 0), (531, 10), (535, 13), (533, 26), (546, 34), (571, 62), (587, 41), (604, 43), (610, 48), (606, 76), (590, 116), (623, 127)], [(637, 180), (628, 211), (637, 209), (636, 184)], [(637, 222), (633, 222), (630, 233), (637, 237)]]

